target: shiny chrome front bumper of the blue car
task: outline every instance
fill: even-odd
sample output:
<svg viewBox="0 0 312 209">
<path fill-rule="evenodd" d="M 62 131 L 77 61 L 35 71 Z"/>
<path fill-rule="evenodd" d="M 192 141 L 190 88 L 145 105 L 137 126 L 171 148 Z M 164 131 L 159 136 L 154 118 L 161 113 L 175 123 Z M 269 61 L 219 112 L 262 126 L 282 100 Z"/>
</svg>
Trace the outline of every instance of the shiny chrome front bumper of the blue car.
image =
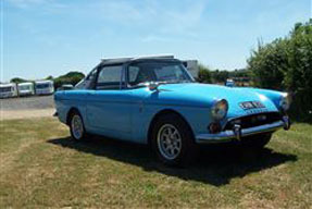
<svg viewBox="0 0 312 209">
<path fill-rule="evenodd" d="M 259 126 L 249 127 L 249 128 L 242 128 L 241 136 L 244 137 L 244 136 L 249 136 L 249 135 L 254 135 L 254 134 L 260 134 L 260 133 L 275 132 L 278 128 L 284 127 L 284 123 L 285 123 L 284 121 L 277 121 L 277 122 L 270 123 L 270 124 L 259 125 Z M 196 136 L 196 140 L 199 144 L 229 142 L 235 138 L 237 138 L 237 136 L 234 133 L 234 131 L 224 131 L 217 134 L 198 134 Z"/>
</svg>

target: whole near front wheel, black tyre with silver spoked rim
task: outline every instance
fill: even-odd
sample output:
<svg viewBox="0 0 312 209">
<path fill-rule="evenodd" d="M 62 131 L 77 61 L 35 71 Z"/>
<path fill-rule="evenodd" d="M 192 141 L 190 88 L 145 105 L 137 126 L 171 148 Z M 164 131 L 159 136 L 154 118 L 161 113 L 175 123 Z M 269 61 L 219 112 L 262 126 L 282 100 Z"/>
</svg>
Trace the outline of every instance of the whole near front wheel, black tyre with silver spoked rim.
<svg viewBox="0 0 312 209">
<path fill-rule="evenodd" d="M 160 116 L 154 123 L 151 146 L 160 161 L 179 167 L 191 163 L 197 149 L 190 127 L 173 113 Z"/>
</svg>

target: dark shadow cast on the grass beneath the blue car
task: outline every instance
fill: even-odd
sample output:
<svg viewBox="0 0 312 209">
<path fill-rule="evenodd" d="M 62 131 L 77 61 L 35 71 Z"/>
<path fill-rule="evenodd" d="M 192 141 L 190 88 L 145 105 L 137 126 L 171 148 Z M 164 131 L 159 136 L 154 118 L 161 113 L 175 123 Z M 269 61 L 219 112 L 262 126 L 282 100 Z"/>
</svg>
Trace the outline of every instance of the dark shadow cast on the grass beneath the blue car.
<svg viewBox="0 0 312 209">
<path fill-rule="evenodd" d="M 169 168 L 160 163 L 146 145 L 125 143 L 103 137 L 92 137 L 87 142 L 73 142 L 70 137 L 50 139 L 48 143 L 86 153 L 107 157 L 141 167 L 146 171 L 157 171 L 185 181 L 198 181 L 214 186 L 228 184 L 234 177 L 270 169 L 286 162 L 297 161 L 297 156 L 262 150 L 242 149 L 232 144 L 202 146 L 198 160 L 185 169 Z"/>
</svg>

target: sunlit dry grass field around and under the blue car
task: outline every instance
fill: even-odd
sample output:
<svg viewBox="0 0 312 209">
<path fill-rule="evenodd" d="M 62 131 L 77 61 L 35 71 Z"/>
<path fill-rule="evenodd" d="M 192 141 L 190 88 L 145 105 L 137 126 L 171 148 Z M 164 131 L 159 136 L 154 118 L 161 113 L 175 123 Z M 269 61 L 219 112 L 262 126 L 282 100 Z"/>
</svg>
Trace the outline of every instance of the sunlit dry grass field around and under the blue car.
<svg viewBox="0 0 312 209">
<path fill-rule="evenodd" d="M 0 123 L 0 208 L 311 208 L 309 124 L 260 152 L 210 146 L 195 165 L 171 169 L 146 146 L 73 143 L 55 119 Z"/>
</svg>

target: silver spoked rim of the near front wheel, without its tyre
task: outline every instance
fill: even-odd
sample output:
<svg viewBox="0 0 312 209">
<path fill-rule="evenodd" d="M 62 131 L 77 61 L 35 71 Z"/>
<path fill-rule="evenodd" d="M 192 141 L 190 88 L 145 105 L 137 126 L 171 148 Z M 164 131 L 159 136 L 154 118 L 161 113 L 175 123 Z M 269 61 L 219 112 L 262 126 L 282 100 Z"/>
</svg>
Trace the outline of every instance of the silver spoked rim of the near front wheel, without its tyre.
<svg viewBox="0 0 312 209">
<path fill-rule="evenodd" d="M 178 157 L 182 149 L 182 137 L 175 126 L 171 124 L 161 126 L 157 139 L 159 151 L 164 158 L 173 160 Z"/>
</svg>

